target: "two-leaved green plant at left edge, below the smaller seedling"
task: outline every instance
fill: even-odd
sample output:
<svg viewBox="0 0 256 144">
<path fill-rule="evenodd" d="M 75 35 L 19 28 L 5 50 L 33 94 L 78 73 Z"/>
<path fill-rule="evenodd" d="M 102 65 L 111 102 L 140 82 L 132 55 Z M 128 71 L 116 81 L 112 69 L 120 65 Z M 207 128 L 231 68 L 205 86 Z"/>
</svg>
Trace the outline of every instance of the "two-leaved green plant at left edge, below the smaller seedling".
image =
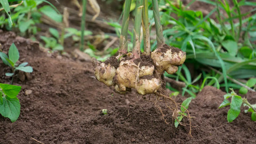
<svg viewBox="0 0 256 144">
<path fill-rule="evenodd" d="M 20 116 L 20 101 L 17 98 L 21 86 L 0 83 L 0 114 L 17 121 Z"/>
</svg>

